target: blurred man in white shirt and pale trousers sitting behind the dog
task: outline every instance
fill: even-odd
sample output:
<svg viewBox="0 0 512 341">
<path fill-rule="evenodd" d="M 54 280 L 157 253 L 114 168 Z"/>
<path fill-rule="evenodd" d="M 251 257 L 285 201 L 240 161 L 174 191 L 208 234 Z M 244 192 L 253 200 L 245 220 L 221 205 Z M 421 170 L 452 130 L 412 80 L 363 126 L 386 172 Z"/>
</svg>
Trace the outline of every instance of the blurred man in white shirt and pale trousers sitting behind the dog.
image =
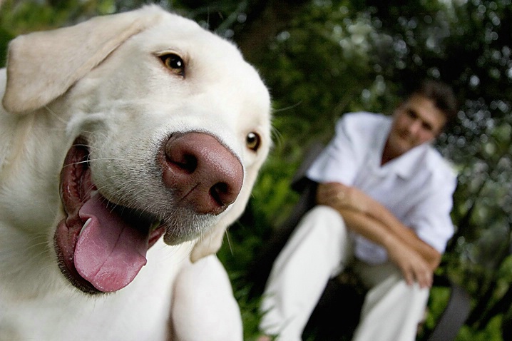
<svg viewBox="0 0 512 341">
<path fill-rule="evenodd" d="M 456 112 L 452 89 L 427 80 L 392 118 L 361 112 L 339 119 L 307 170 L 319 183 L 317 205 L 275 260 L 258 341 L 301 340 L 327 281 L 347 266 L 369 290 L 352 340 L 415 340 L 454 233 L 456 174 L 431 143 Z"/>
</svg>

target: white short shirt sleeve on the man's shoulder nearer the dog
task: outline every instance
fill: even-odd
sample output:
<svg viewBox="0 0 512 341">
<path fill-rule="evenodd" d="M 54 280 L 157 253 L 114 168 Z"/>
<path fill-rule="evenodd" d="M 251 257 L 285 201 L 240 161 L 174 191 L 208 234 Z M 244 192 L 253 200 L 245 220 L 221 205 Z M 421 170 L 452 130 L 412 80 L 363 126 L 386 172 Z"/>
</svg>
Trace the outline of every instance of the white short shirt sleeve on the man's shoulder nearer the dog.
<svg viewBox="0 0 512 341">
<path fill-rule="evenodd" d="M 337 182 L 352 185 L 362 153 L 354 134 L 354 114 L 346 114 L 336 124 L 332 141 L 319 154 L 306 176 L 319 183 Z M 360 146 L 359 146 L 360 148 Z"/>
</svg>

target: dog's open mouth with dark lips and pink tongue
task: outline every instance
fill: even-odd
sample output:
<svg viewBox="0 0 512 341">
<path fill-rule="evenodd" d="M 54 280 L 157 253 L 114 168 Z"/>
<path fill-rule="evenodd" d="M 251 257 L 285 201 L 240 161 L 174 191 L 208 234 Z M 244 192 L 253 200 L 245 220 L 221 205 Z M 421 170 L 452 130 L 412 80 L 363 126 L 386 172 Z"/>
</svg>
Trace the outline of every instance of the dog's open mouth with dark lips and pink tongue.
<svg viewBox="0 0 512 341">
<path fill-rule="evenodd" d="M 88 156 L 78 138 L 61 171 L 66 218 L 56 229 L 56 253 L 61 272 L 78 289 L 113 292 L 132 282 L 165 227 L 158 217 L 104 198 L 91 180 Z"/>
</svg>

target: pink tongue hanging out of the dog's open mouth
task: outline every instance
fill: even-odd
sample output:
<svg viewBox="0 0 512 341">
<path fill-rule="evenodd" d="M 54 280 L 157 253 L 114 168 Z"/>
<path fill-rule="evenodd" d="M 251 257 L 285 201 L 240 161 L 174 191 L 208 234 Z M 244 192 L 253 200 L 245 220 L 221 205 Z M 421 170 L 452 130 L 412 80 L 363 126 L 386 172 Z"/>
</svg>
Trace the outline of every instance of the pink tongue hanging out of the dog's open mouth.
<svg viewBox="0 0 512 341">
<path fill-rule="evenodd" d="M 145 265 L 148 234 L 131 228 L 102 200 L 93 195 L 80 209 L 80 218 L 91 221 L 78 237 L 75 267 L 96 289 L 111 292 L 130 284 Z"/>
</svg>

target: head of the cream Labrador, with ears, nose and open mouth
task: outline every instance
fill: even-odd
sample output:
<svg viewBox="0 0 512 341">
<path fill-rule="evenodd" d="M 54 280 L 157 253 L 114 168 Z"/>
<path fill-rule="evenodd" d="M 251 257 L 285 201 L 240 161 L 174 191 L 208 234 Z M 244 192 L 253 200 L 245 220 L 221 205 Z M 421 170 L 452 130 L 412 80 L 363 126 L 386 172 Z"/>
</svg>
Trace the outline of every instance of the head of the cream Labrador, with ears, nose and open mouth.
<svg viewBox="0 0 512 341">
<path fill-rule="evenodd" d="M 156 6 L 15 39 L 3 104 L 61 126 L 48 136 L 62 162 L 52 238 L 85 292 L 128 285 L 162 235 L 197 240 L 193 260 L 215 253 L 270 148 L 254 68 Z"/>
</svg>

